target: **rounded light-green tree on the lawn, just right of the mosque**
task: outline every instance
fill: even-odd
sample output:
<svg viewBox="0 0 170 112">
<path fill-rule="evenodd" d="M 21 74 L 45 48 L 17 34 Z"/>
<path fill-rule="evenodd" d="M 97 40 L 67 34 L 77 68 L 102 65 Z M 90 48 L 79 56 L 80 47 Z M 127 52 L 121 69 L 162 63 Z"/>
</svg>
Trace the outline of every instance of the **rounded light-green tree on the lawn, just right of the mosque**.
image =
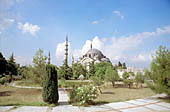
<svg viewBox="0 0 170 112">
<path fill-rule="evenodd" d="M 116 70 L 113 70 L 111 67 L 108 67 L 106 70 L 105 78 L 107 81 L 111 82 L 114 87 L 115 81 L 119 79 L 119 75 Z"/>
</svg>

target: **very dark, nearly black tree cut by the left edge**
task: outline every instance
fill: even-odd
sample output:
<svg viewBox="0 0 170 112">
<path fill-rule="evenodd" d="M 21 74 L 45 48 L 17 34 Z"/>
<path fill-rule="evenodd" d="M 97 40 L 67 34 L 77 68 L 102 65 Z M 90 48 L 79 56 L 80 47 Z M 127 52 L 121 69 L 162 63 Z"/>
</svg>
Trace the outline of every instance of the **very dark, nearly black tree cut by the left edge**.
<svg viewBox="0 0 170 112">
<path fill-rule="evenodd" d="M 3 57 L 2 53 L 0 52 L 0 75 L 6 72 L 7 61 Z"/>
</svg>

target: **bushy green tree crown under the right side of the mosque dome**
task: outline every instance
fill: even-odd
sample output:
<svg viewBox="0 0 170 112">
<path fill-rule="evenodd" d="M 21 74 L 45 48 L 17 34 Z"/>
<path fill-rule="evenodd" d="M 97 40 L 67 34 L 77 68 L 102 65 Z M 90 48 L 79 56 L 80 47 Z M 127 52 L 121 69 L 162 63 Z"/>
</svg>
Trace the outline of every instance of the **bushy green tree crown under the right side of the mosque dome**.
<svg viewBox="0 0 170 112">
<path fill-rule="evenodd" d="M 104 75 L 106 74 L 106 69 L 108 67 L 113 68 L 112 63 L 96 63 L 95 64 L 95 76 L 100 77 L 102 80 L 105 78 Z"/>
</svg>

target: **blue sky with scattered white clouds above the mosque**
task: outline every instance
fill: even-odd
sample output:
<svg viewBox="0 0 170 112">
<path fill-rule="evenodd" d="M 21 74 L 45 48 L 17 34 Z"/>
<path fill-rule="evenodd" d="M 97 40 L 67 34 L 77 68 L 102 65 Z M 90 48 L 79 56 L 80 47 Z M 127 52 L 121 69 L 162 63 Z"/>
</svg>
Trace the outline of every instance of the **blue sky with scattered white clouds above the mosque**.
<svg viewBox="0 0 170 112">
<path fill-rule="evenodd" d="M 0 52 L 32 64 L 38 49 L 63 64 L 99 49 L 113 64 L 149 68 L 159 46 L 170 48 L 170 0 L 0 0 Z"/>
</svg>

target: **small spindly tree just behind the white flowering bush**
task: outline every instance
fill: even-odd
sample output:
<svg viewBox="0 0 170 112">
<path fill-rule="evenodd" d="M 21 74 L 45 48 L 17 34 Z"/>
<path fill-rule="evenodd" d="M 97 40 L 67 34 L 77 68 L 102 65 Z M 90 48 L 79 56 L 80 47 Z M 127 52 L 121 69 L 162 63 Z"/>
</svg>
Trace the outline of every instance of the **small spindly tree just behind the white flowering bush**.
<svg viewBox="0 0 170 112">
<path fill-rule="evenodd" d="M 100 77 L 97 77 L 97 76 L 92 76 L 91 81 L 93 82 L 93 85 L 96 86 L 99 89 L 100 93 L 102 94 L 100 86 L 104 84 L 104 81 Z"/>
</svg>

